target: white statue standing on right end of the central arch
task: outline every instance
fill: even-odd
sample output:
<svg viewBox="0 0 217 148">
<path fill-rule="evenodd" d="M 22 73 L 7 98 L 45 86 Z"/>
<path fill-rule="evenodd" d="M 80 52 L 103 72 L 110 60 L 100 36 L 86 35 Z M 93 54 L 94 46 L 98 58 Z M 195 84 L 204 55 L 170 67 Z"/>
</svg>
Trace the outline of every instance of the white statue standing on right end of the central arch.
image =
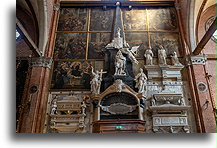
<svg viewBox="0 0 217 148">
<path fill-rule="evenodd" d="M 135 77 L 136 88 L 138 88 L 138 93 L 145 93 L 146 90 L 146 81 L 147 77 L 143 72 L 143 69 L 140 68 L 140 73 L 138 73 Z"/>
</svg>

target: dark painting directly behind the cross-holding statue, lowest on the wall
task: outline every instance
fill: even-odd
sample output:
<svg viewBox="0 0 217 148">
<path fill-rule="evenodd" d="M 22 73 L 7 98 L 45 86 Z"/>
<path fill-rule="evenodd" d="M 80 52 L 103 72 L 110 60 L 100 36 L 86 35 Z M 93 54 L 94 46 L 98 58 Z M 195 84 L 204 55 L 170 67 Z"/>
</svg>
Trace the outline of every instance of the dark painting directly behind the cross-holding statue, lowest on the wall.
<svg viewBox="0 0 217 148">
<path fill-rule="evenodd" d="M 90 89 L 93 61 L 56 61 L 52 78 L 53 89 Z"/>
</svg>

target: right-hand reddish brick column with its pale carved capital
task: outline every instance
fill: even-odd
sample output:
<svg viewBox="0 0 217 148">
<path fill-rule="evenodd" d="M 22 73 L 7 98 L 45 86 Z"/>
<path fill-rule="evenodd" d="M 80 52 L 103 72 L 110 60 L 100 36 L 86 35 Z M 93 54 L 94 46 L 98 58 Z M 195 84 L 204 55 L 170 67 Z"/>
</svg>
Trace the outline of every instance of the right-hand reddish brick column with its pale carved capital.
<svg viewBox="0 0 217 148">
<path fill-rule="evenodd" d="M 194 94 L 196 103 L 196 110 L 200 119 L 200 126 L 202 133 L 215 133 L 216 120 L 214 111 L 214 102 L 211 97 L 208 82 L 206 78 L 206 71 L 204 65 L 206 64 L 205 55 L 191 56 L 189 58 L 189 66 L 192 69 L 192 80 L 194 84 Z"/>
</svg>

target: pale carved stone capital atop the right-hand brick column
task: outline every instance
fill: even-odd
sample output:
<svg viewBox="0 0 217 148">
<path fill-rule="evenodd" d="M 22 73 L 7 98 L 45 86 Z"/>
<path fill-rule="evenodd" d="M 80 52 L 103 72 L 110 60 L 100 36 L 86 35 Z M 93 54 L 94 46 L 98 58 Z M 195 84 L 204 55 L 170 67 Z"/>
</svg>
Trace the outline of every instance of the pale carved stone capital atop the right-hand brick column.
<svg viewBox="0 0 217 148">
<path fill-rule="evenodd" d="M 186 58 L 186 65 L 206 65 L 207 57 L 205 54 L 190 56 Z"/>
</svg>

